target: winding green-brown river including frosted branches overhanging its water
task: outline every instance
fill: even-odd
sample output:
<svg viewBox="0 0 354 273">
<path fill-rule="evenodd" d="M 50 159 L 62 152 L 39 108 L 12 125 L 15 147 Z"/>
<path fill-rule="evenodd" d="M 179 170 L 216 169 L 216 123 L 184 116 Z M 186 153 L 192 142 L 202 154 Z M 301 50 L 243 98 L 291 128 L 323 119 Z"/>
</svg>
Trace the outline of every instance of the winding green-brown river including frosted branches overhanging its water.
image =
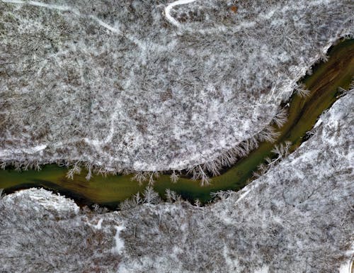
<svg viewBox="0 0 354 273">
<path fill-rule="evenodd" d="M 223 169 L 213 169 L 213 172 L 218 174 L 217 177 L 212 177 L 210 184 L 203 187 L 200 187 L 202 179 L 198 177 L 200 174 L 197 172 L 201 170 L 203 175 L 210 175 L 212 172 L 208 172 L 209 169 L 205 168 L 212 169 L 215 164 L 211 165 L 212 167 L 210 165 L 199 167 L 199 170 L 194 170 L 194 174 L 193 169 L 189 170 L 189 174 L 188 170 L 171 172 L 170 174 L 137 172 L 134 175 L 108 177 L 93 174 L 89 181 L 86 180 L 87 174 L 85 172 L 74 174 L 79 172 L 79 165 L 74 166 L 69 174 L 67 174 L 66 168 L 60 169 L 55 166 L 44 167 L 40 172 L 18 173 L 4 170 L 0 172 L 4 177 L 2 179 L 4 182 L 1 181 L 0 186 L 8 192 L 24 187 L 44 186 L 47 189 L 57 190 L 72 196 L 84 204 L 98 203 L 116 208 L 120 201 L 130 199 L 133 195 L 137 196 L 137 193 L 139 193 L 139 200 L 141 200 L 144 189 L 149 185 L 159 193 L 161 198 L 169 199 L 168 196 L 174 196 L 172 199 L 176 200 L 180 198 L 178 196 L 181 196 L 192 203 L 198 200 L 201 204 L 205 204 L 212 199 L 210 194 L 218 191 L 237 191 L 243 188 L 250 181 L 249 179 L 265 174 L 270 166 L 278 164 L 282 158 L 299 147 L 303 140 L 307 140 L 309 135 L 312 135 L 309 131 L 314 127 L 321 113 L 343 94 L 343 88 L 350 88 L 354 74 L 353 55 L 353 40 L 344 40 L 331 48 L 329 61 L 317 65 L 311 76 L 299 82 L 299 85 L 304 84 L 309 89 L 310 92 L 307 92 L 307 96 L 299 96 L 295 90 L 292 99 L 280 106 L 278 117 L 281 120 L 287 117 L 287 122 L 278 128 L 280 122 L 272 121 L 271 128 L 280 133 L 274 143 L 255 141 L 255 150 L 250 151 L 247 156 L 239 157 L 232 167 L 227 168 L 225 165 L 226 167 Z M 250 147 L 251 144 L 248 146 Z M 196 180 L 193 180 L 193 175 Z M 166 192 L 167 189 L 169 192 Z M 135 201 L 135 204 L 139 204 L 139 202 Z"/>
</svg>

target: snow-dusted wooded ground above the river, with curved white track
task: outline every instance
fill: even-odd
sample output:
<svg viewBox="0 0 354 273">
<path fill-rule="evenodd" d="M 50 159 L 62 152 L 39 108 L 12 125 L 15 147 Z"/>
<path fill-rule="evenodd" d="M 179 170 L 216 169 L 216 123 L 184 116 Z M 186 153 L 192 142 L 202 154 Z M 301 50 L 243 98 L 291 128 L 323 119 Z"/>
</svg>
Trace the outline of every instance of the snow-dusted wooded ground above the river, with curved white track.
<svg viewBox="0 0 354 273">
<path fill-rule="evenodd" d="M 0 160 L 213 160 L 352 30 L 350 0 L 1 0 Z"/>
</svg>

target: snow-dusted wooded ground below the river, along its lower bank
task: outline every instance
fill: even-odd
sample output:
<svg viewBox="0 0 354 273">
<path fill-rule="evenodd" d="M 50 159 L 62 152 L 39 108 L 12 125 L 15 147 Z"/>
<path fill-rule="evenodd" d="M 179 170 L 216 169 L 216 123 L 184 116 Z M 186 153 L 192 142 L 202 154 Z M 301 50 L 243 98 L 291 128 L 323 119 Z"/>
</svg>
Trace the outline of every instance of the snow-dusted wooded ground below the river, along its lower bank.
<svg viewBox="0 0 354 273">
<path fill-rule="evenodd" d="M 78 211 L 45 190 L 4 196 L 1 271 L 349 273 L 353 109 L 352 90 L 297 151 L 210 206 L 176 201 L 108 213 Z"/>
</svg>

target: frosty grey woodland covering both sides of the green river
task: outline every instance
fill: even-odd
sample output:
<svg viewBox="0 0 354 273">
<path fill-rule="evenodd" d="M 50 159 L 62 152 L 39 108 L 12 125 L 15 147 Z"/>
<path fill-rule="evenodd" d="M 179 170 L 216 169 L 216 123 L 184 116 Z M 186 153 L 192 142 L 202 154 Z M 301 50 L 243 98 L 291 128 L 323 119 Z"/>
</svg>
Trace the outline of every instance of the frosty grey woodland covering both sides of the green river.
<svg viewBox="0 0 354 273">
<path fill-rule="evenodd" d="M 0 167 L 188 169 L 271 140 L 350 0 L 0 0 Z M 207 206 L 147 187 L 117 211 L 0 194 L 0 272 L 338 272 L 353 257 L 353 87 L 304 142 Z M 174 171 L 173 171 L 174 170 Z"/>
</svg>

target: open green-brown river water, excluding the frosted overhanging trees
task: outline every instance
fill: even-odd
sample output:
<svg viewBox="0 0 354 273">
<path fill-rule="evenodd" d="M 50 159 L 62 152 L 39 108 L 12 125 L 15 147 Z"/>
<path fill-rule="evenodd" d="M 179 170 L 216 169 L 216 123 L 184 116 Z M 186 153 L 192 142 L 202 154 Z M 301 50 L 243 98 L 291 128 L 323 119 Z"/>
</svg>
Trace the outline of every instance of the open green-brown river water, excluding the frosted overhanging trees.
<svg viewBox="0 0 354 273">
<path fill-rule="evenodd" d="M 162 174 L 154 183 L 154 189 L 164 196 L 166 189 L 180 194 L 183 199 L 202 203 L 211 200 L 210 193 L 215 191 L 239 190 L 243 188 L 258 165 L 265 162 L 266 157 L 274 157 L 274 145 L 290 141 L 290 152 L 294 151 L 306 140 L 324 110 L 341 95 L 338 87 L 348 89 L 354 75 L 354 40 L 344 40 L 329 50 L 329 61 L 313 67 L 314 73 L 301 80 L 309 89 L 305 98 L 294 94 L 288 104 L 288 120 L 279 129 L 280 136 L 275 143 L 263 142 L 256 150 L 218 177 L 212 177 L 209 186 L 200 186 L 199 181 L 188 177 L 180 177 L 176 184 L 171 183 L 169 174 Z M 138 191 L 143 191 L 147 183 L 139 185 L 132 181 L 132 175 L 109 177 L 94 176 L 86 181 L 82 172 L 74 179 L 67 179 L 67 169 L 57 165 L 46 165 L 40 172 L 34 170 L 16 172 L 13 169 L 0 171 L 0 189 L 11 193 L 18 189 L 44 187 L 76 200 L 78 204 L 100 204 L 108 208 L 116 208 L 120 201 L 130 198 Z"/>
</svg>

